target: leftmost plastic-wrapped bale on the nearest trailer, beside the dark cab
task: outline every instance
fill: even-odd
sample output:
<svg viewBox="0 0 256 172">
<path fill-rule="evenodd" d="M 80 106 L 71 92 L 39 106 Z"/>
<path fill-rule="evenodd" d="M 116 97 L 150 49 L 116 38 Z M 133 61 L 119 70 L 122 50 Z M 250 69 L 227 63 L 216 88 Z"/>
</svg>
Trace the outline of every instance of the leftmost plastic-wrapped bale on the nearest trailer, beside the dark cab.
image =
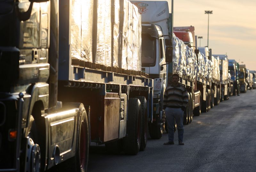
<svg viewBox="0 0 256 172">
<path fill-rule="evenodd" d="M 70 50 L 71 58 L 81 60 L 81 0 L 71 1 Z"/>
</svg>

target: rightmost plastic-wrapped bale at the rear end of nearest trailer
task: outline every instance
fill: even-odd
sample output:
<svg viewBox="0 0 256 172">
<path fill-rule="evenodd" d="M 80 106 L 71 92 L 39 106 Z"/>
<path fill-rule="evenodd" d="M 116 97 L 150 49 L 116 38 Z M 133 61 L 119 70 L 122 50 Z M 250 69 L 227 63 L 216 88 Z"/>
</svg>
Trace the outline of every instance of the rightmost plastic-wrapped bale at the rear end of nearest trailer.
<svg viewBox="0 0 256 172">
<path fill-rule="evenodd" d="M 141 23 L 139 23 L 140 14 L 138 8 L 132 4 L 132 70 L 141 70 L 141 65 L 138 66 L 138 61 L 141 60 L 139 39 L 141 40 L 139 34 L 141 35 Z M 140 28 L 140 32 L 139 32 Z"/>
</svg>

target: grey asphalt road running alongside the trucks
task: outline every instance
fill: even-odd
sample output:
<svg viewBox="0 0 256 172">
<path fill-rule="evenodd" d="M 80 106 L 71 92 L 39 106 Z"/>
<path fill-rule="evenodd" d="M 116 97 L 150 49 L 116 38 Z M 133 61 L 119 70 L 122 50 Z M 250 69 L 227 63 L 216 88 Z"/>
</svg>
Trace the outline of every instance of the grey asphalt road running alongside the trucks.
<svg viewBox="0 0 256 172">
<path fill-rule="evenodd" d="M 256 90 L 220 102 L 184 127 L 184 146 L 148 138 L 137 155 L 91 147 L 88 171 L 256 171 Z"/>
</svg>

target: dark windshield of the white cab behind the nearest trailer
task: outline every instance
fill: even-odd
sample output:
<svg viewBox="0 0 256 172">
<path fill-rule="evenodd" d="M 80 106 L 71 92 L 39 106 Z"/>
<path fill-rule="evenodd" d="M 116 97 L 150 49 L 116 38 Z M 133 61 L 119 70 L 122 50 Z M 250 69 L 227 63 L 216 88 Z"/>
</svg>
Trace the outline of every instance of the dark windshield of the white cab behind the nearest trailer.
<svg viewBox="0 0 256 172">
<path fill-rule="evenodd" d="M 141 35 L 141 66 L 150 67 L 156 63 L 156 38 L 149 34 Z"/>
</svg>

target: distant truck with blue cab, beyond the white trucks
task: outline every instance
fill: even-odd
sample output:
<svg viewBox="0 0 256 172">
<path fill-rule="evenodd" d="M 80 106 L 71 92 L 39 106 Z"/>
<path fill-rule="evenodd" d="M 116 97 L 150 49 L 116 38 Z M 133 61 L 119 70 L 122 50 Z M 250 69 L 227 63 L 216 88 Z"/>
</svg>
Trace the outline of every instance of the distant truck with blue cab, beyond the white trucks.
<svg viewBox="0 0 256 172">
<path fill-rule="evenodd" d="M 233 87 L 233 96 L 239 94 L 240 92 L 240 83 L 239 83 L 239 63 L 234 59 L 228 60 L 228 72 L 231 75 L 231 80 L 234 81 Z"/>
</svg>

